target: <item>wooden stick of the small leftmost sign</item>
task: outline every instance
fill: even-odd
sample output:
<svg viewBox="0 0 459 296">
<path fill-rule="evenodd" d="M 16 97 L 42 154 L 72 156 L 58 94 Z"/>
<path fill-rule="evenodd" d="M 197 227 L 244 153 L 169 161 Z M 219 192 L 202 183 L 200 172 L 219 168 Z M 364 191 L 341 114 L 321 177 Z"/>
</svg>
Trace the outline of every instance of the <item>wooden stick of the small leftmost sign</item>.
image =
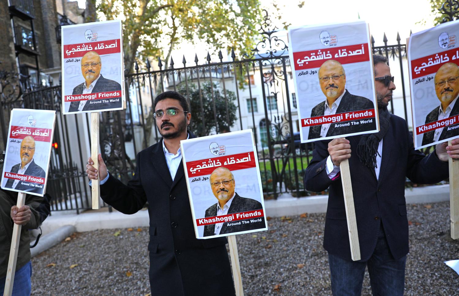
<svg viewBox="0 0 459 296">
<path fill-rule="evenodd" d="M 26 201 L 26 194 L 19 192 L 17 194 L 18 208 L 22 207 Z M 11 239 L 10 259 L 8 260 L 8 269 L 6 271 L 4 296 L 10 296 L 13 292 L 14 273 L 16 272 L 17 250 L 19 249 L 19 240 L 21 237 L 21 225 L 14 223 L 13 237 Z"/>
</svg>

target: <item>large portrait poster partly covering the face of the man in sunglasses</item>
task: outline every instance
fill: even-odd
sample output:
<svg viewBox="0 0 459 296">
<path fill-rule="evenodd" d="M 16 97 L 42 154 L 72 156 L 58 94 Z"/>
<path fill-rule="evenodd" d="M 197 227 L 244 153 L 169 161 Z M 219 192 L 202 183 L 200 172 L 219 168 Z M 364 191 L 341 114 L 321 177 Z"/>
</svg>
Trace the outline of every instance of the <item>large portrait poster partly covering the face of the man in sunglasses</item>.
<svg viewBox="0 0 459 296">
<path fill-rule="evenodd" d="M 379 130 L 368 24 L 289 27 L 301 142 Z"/>
</svg>

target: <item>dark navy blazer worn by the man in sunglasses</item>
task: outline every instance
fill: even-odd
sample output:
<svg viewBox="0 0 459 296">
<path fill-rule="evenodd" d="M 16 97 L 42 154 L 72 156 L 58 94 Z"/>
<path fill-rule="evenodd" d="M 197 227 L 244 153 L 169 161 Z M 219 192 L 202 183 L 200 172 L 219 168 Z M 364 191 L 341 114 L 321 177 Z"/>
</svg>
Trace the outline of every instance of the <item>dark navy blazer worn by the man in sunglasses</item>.
<svg viewBox="0 0 459 296">
<path fill-rule="evenodd" d="M 437 183 L 448 178 L 448 162 L 435 152 L 425 156 L 414 150 L 408 125 L 392 115 L 383 138 L 379 180 L 374 169 L 362 165 L 355 154 L 360 135 L 347 137 L 351 144 L 349 168 L 357 220 L 361 261 L 367 261 L 375 250 L 380 229 L 384 227 L 392 255 L 399 259 L 408 253 L 408 219 L 405 201 L 405 177 L 415 183 Z M 351 261 L 346 211 L 341 177 L 330 180 L 325 170 L 328 142 L 315 142 L 313 159 L 306 169 L 307 190 L 320 192 L 330 187 L 325 219 L 324 248 L 329 253 Z"/>
</svg>

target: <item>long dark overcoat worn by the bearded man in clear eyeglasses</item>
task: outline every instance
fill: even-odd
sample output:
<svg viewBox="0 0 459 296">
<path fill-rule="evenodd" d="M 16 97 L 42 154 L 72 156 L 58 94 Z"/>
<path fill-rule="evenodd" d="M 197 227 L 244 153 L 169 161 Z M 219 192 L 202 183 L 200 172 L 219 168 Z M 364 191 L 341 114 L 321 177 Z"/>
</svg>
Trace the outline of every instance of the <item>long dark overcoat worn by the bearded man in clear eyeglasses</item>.
<svg viewBox="0 0 459 296">
<path fill-rule="evenodd" d="M 173 181 L 162 140 L 140 151 L 136 163 L 128 185 L 110 175 L 101 197 L 125 214 L 148 201 L 151 295 L 235 295 L 226 238 L 196 239 L 183 163 Z"/>
</svg>

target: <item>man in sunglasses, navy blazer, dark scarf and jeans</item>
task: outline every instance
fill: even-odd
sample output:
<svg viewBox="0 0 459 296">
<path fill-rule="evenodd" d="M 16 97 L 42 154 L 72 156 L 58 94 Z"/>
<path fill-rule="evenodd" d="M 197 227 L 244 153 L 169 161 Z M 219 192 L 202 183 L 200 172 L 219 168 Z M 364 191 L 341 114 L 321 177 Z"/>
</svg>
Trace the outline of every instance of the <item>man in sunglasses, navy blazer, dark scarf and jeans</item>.
<svg viewBox="0 0 459 296">
<path fill-rule="evenodd" d="M 368 268 L 373 295 L 403 295 L 408 246 L 405 179 L 432 184 L 448 178 L 448 157 L 459 159 L 459 139 L 425 156 L 414 150 L 406 121 L 390 114 L 395 84 L 387 59 L 373 55 L 380 131 L 315 142 L 304 176 L 307 190 L 330 188 L 324 248 L 333 295 L 360 295 Z M 360 257 L 352 261 L 340 163 L 349 159 Z"/>
</svg>

